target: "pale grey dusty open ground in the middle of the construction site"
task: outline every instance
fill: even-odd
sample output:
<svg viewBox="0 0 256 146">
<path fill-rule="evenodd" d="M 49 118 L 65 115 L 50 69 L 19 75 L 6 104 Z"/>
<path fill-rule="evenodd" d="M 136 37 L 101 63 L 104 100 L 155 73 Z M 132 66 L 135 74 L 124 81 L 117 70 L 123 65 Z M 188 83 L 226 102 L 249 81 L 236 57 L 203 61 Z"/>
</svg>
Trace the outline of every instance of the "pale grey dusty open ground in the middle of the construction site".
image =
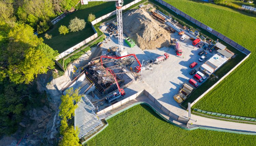
<svg viewBox="0 0 256 146">
<path fill-rule="evenodd" d="M 102 27 L 101 30 L 108 35 L 108 33 Z M 168 33 L 170 35 L 170 33 Z M 185 40 L 180 40 L 181 35 L 177 33 L 171 34 L 172 38 L 178 39 L 180 41 L 180 48 L 183 50 L 182 56 L 176 56 L 174 47 L 162 47 L 160 49 L 140 49 L 137 45 L 133 48 L 130 48 L 127 43 L 124 43 L 124 48 L 127 50 L 128 54 L 136 54 L 140 62 L 142 60 L 153 60 L 164 53 L 169 54 L 169 59 L 165 62 L 162 62 L 159 65 L 153 65 L 153 71 L 145 70 L 142 71 L 142 80 L 137 80 L 125 88 L 126 95 L 124 98 L 129 97 L 143 89 L 151 93 L 156 99 L 158 99 L 160 104 L 165 105 L 169 110 L 176 111 L 177 115 L 186 114 L 186 111 L 181 109 L 179 104 L 174 101 L 173 96 L 179 92 L 180 87 L 183 83 L 188 83 L 190 78 L 193 78 L 189 74 L 191 69 L 189 68 L 190 63 L 196 61 L 198 65 L 196 70 L 199 69 L 199 66 L 203 62 L 199 62 L 198 53 L 202 50 L 198 48 L 198 44 L 195 49 L 193 49 L 192 41 L 189 38 Z M 108 43 L 103 43 L 103 48 L 109 48 L 111 46 L 117 46 L 118 39 L 112 37 L 111 41 Z M 208 53 L 208 58 L 212 54 Z M 206 60 L 205 60 L 206 61 Z M 132 65 L 138 66 L 137 62 L 134 62 Z M 204 82 L 203 82 L 204 83 Z M 202 83 L 199 83 L 199 85 Z M 122 100 L 123 98 L 118 99 L 117 101 Z"/>
</svg>

